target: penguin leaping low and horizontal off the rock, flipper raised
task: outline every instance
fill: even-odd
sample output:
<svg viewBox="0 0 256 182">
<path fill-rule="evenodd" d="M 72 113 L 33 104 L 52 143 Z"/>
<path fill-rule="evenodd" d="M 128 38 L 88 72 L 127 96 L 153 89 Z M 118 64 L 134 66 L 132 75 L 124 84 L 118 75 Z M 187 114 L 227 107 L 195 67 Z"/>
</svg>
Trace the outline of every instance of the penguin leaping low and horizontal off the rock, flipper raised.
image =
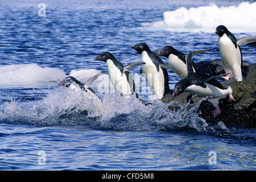
<svg viewBox="0 0 256 182">
<path fill-rule="evenodd" d="M 218 102 L 222 98 L 229 96 L 232 101 L 236 101 L 232 96 L 232 88 L 229 86 L 225 89 L 221 83 L 216 80 L 216 77 L 225 76 L 227 74 L 211 77 L 204 73 L 193 72 L 191 53 L 187 56 L 187 69 L 188 76 L 185 77 L 184 80 L 177 82 L 174 86 L 173 96 L 188 91 L 192 95 L 207 97 L 207 100 L 216 107 L 216 109 L 212 111 L 214 115 L 221 113 Z"/>
</svg>

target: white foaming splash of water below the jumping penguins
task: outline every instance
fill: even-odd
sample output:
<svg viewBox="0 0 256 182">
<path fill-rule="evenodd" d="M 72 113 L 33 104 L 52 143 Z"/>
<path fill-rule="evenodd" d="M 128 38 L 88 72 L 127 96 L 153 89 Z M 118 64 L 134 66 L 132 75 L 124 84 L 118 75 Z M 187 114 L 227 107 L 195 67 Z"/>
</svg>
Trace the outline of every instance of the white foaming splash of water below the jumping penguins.
<svg viewBox="0 0 256 182">
<path fill-rule="evenodd" d="M 196 131 L 226 130 L 224 123 L 210 126 L 197 117 L 200 102 L 185 104 L 179 110 L 155 100 L 144 105 L 135 96 L 105 94 L 102 102 L 80 89 L 56 87 L 45 90 L 47 96 L 34 101 L 11 101 L 0 104 L 0 122 L 26 123 L 36 126 L 89 125 L 118 131 Z"/>
</svg>

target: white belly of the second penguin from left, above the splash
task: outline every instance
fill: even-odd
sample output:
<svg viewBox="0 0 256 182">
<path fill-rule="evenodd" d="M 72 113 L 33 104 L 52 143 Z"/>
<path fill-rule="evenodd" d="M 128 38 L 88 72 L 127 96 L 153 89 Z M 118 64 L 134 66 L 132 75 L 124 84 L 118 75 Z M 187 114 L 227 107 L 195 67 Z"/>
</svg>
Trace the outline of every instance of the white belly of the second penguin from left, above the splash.
<svg viewBox="0 0 256 182">
<path fill-rule="evenodd" d="M 121 71 L 115 67 L 112 60 L 107 60 L 106 63 L 108 64 L 109 78 L 114 85 L 115 90 L 122 95 L 131 94 L 130 85 L 126 75 L 122 74 Z"/>
</svg>

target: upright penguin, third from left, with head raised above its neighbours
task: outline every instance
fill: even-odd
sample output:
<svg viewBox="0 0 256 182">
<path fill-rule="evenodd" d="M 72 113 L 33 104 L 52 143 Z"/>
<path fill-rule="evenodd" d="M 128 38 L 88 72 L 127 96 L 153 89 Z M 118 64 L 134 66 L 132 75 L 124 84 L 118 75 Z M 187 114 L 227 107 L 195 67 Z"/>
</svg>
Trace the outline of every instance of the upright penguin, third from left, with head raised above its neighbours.
<svg viewBox="0 0 256 182">
<path fill-rule="evenodd" d="M 166 97 L 172 93 L 169 88 L 168 72 L 165 68 L 161 68 L 163 61 L 145 43 L 139 43 L 131 46 L 141 54 L 142 65 L 141 74 L 146 76 L 147 85 L 151 91 L 158 96 L 159 99 Z"/>
</svg>

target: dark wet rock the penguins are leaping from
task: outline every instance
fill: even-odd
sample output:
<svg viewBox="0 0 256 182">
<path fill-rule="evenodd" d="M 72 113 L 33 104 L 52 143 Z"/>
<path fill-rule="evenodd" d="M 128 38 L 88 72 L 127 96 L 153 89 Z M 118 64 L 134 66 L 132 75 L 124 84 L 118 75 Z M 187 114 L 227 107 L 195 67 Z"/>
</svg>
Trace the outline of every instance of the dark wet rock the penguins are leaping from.
<svg viewBox="0 0 256 182">
<path fill-rule="evenodd" d="M 200 72 L 209 75 L 220 75 L 224 73 L 221 61 L 203 61 L 197 63 Z M 243 63 L 243 81 L 219 79 L 224 87 L 231 86 L 233 97 L 236 102 L 231 101 L 229 97 L 220 100 L 219 106 L 221 114 L 214 116 L 212 111 L 215 109 L 207 100 L 201 101 L 199 97 L 193 97 L 193 102 L 201 101 L 197 113 L 199 117 L 207 121 L 222 121 L 225 125 L 240 125 L 256 128 L 256 64 Z M 179 96 L 163 98 L 163 102 L 171 103 L 170 109 L 179 109 L 187 103 L 189 93 L 185 92 Z M 172 102 L 174 101 L 174 102 Z"/>
</svg>

